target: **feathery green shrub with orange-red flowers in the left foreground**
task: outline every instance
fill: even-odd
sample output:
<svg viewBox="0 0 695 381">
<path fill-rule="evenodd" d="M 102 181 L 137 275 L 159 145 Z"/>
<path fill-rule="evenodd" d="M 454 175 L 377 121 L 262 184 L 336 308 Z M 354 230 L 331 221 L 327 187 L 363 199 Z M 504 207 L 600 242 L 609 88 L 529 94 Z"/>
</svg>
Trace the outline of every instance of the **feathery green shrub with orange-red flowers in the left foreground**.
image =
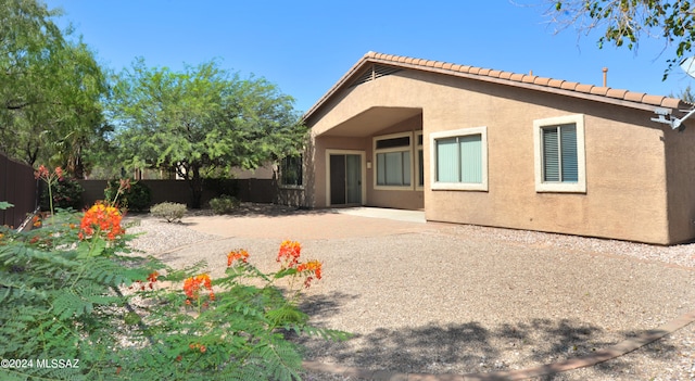
<svg viewBox="0 0 695 381">
<path fill-rule="evenodd" d="M 299 309 L 321 263 L 300 262 L 298 242 L 281 243 L 277 272 L 233 250 L 211 278 L 203 264 L 135 255 L 121 223 L 118 208 L 98 203 L 26 232 L 0 227 L 1 380 L 291 381 L 302 357 L 287 332 L 348 338 L 308 326 Z"/>
</svg>

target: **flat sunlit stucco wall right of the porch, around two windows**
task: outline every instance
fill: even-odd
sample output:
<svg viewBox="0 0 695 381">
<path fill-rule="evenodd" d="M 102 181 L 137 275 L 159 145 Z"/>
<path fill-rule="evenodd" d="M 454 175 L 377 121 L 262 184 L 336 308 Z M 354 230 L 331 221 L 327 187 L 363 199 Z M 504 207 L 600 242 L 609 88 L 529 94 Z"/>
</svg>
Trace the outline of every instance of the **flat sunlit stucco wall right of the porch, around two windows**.
<svg viewBox="0 0 695 381">
<path fill-rule="evenodd" d="M 649 113 L 466 85 L 438 86 L 429 97 L 432 103 L 426 107 L 424 125 L 427 134 L 488 127 L 489 191 L 427 190 L 427 219 L 669 242 L 664 131 L 649 126 Z M 452 99 L 460 99 L 462 106 L 451 106 Z M 584 114 L 586 193 L 536 192 L 533 120 L 571 114 Z M 430 160 L 428 141 L 425 150 Z"/>
</svg>

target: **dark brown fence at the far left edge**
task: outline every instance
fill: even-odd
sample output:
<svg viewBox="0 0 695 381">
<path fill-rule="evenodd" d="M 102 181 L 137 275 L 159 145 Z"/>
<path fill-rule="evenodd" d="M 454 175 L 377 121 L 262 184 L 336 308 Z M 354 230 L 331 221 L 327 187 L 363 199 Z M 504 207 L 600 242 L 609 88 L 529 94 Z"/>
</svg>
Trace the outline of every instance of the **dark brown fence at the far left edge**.
<svg viewBox="0 0 695 381">
<path fill-rule="evenodd" d="M 27 214 L 38 205 L 38 181 L 34 168 L 14 162 L 0 153 L 0 201 L 14 205 L 0 211 L 0 226 L 20 227 Z"/>
</svg>

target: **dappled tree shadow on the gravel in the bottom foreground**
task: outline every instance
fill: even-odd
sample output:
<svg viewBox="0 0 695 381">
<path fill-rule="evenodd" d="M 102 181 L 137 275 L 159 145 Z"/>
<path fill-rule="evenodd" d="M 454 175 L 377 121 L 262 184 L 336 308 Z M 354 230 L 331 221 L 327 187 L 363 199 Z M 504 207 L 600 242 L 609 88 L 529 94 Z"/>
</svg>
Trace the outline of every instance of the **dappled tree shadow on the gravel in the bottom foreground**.
<svg viewBox="0 0 695 381">
<path fill-rule="evenodd" d="M 337 314 L 340 299 L 307 303 L 312 316 Z M 305 309 L 306 310 L 306 309 Z M 314 314 L 317 315 L 314 315 Z M 301 339 L 311 360 L 328 361 L 362 369 L 381 369 L 416 373 L 489 373 L 536 367 L 568 358 L 590 356 L 641 332 L 611 335 L 602 328 L 571 319 L 535 319 L 530 322 L 505 323 L 494 329 L 471 321 L 460 325 L 429 323 L 402 330 L 377 329 L 348 342 L 325 342 Z M 616 341 L 616 338 L 617 341 Z M 353 341 L 357 341 L 356 343 Z M 675 348 L 669 344 L 643 350 L 665 365 L 673 361 Z M 630 365 L 620 357 L 599 364 L 599 372 L 629 371 Z M 540 380 L 561 380 L 564 373 L 548 374 Z"/>
</svg>

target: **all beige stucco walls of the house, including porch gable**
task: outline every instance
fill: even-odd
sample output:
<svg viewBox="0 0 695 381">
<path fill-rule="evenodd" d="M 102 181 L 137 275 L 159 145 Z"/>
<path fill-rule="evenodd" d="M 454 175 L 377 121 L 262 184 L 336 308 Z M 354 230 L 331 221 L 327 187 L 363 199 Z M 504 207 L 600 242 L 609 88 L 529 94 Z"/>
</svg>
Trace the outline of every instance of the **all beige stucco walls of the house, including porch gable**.
<svg viewBox="0 0 695 381">
<path fill-rule="evenodd" d="M 428 220 L 659 244 L 695 237 L 690 223 L 695 215 L 695 180 L 687 176 L 695 166 L 695 153 L 688 150 L 688 145 L 693 147 L 693 131 L 686 130 L 682 136 L 687 139 L 674 143 L 678 132 L 652 123 L 650 112 L 403 71 L 337 93 L 325 109 L 312 115 L 308 125 L 314 136 L 328 135 L 331 128 L 375 106 L 422 110 L 422 194 Z M 536 192 L 533 120 L 573 114 L 584 115 L 586 192 Z M 432 190 L 429 134 L 483 126 L 488 134 L 488 190 Z M 381 132 L 369 131 L 367 138 L 352 140 L 319 136 L 316 149 L 370 150 L 371 136 Z M 315 206 L 321 206 L 320 200 L 325 200 L 324 160 L 323 154 L 314 156 Z M 686 167 L 679 169 L 673 162 L 685 162 Z M 368 186 L 372 188 L 370 182 Z M 391 193 L 371 191 L 368 203 L 382 206 L 381 201 Z"/>
</svg>

